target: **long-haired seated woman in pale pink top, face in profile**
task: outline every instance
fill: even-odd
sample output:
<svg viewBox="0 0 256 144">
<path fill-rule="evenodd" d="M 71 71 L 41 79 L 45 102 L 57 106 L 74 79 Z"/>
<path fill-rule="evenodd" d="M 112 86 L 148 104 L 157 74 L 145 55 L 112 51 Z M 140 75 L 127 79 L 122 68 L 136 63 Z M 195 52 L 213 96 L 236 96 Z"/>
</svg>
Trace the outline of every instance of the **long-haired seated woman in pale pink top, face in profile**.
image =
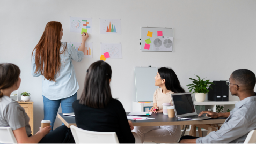
<svg viewBox="0 0 256 144">
<path fill-rule="evenodd" d="M 170 68 L 162 67 L 158 69 L 155 79 L 155 85 L 160 88 L 156 89 L 154 93 L 154 105 L 150 109 L 150 112 L 163 113 L 163 103 L 171 103 L 173 105 L 171 94 L 184 93 L 185 90 L 180 86 L 177 75 Z M 170 143 L 179 140 L 180 126 L 137 126 L 134 132 L 140 137 L 141 143 L 144 141 Z"/>
</svg>

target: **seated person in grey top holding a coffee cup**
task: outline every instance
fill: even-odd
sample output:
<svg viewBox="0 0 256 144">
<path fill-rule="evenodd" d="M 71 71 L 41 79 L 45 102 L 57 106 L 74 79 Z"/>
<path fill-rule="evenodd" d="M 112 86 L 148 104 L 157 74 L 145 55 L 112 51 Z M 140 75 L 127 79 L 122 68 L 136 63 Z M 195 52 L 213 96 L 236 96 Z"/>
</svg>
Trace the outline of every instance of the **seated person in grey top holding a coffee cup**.
<svg viewBox="0 0 256 144">
<path fill-rule="evenodd" d="M 14 64 L 0 64 L 0 127 L 11 127 L 19 144 L 62 143 L 70 130 L 65 125 L 50 132 L 50 126 L 31 135 L 30 118 L 18 102 L 10 98 L 20 86 L 20 69 Z"/>
</svg>

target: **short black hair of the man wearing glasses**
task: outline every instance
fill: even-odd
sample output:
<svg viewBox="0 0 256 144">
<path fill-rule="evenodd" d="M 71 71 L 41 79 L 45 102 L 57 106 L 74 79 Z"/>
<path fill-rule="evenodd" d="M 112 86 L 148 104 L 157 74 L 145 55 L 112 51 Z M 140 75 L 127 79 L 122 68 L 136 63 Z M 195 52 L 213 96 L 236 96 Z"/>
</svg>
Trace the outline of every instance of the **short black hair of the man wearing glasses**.
<svg viewBox="0 0 256 144">
<path fill-rule="evenodd" d="M 244 85 L 246 89 L 254 89 L 256 84 L 256 77 L 255 74 L 247 69 L 239 69 L 232 73 L 231 77 L 236 82 Z"/>
</svg>

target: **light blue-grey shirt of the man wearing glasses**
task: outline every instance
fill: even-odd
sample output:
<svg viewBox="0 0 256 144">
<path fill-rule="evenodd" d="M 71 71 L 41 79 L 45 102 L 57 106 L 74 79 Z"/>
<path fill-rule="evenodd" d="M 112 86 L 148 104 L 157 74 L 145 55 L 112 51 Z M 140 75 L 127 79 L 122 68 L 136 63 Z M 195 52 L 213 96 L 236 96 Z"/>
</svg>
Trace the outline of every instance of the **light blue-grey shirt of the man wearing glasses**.
<svg viewBox="0 0 256 144">
<path fill-rule="evenodd" d="M 256 95 L 256 94 L 255 94 Z M 236 103 L 220 130 L 210 132 L 196 143 L 244 143 L 248 133 L 256 129 L 256 96 Z"/>
</svg>

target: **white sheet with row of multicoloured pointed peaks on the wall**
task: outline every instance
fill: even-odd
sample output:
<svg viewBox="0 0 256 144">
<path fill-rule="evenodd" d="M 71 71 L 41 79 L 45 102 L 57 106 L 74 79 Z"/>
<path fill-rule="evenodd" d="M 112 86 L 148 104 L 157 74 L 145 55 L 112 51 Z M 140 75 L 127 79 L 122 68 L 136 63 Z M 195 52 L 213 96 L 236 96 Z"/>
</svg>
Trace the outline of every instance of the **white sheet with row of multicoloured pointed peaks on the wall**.
<svg viewBox="0 0 256 144">
<path fill-rule="evenodd" d="M 100 34 L 121 34 L 121 20 L 100 19 Z"/>
</svg>

